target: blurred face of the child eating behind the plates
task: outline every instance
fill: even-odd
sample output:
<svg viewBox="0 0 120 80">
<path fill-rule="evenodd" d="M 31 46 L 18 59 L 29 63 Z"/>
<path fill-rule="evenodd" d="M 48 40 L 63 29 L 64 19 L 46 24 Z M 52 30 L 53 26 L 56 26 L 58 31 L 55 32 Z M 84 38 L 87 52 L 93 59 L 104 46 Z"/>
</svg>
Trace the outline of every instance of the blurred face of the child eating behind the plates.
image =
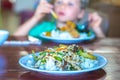
<svg viewBox="0 0 120 80">
<path fill-rule="evenodd" d="M 55 0 L 58 21 L 75 21 L 81 16 L 80 0 Z"/>
</svg>

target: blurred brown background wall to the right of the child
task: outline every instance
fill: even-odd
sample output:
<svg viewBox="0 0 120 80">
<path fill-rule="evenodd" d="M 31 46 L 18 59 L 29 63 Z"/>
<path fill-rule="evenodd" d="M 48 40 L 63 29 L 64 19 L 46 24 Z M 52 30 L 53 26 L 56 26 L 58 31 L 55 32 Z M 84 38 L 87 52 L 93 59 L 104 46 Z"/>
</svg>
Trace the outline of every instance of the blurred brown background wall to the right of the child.
<svg viewBox="0 0 120 80">
<path fill-rule="evenodd" d="M 90 7 L 108 15 L 109 37 L 120 37 L 120 0 L 90 0 Z"/>
</svg>

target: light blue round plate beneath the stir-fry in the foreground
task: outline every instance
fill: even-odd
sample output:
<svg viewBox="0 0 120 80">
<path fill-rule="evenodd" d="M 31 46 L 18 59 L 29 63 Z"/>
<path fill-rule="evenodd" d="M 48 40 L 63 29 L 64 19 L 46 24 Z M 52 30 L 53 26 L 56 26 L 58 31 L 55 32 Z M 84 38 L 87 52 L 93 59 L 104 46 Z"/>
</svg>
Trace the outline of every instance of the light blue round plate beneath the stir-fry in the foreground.
<svg viewBox="0 0 120 80">
<path fill-rule="evenodd" d="M 30 66 L 33 66 L 33 63 L 34 63 L 34 59 L 32 57 L 32 54 L 29 54 L 27 56 L 24 56 L 24 57 L 20 58 L 19 64 L 23 68 L 26 68 L 26 69 L 31 70 L 31 71 L 37 71 L 37 72 L 40 72 L 40 73 L 48 73 L 48 74 L 56 74 L 56 75 L 80 74 L 80 73 L 84 73 L 84 72 L 89 72 L 89 71 L 94 71 L 94 70 L 101 69 L 107 64 L 108 61 L 105 57 L 103 57 L 99 54 L 94 54 L 94 55 L 98 59 L 98 64 L 93 68 L 78 70 L 78 71 L 48 71 L 48 70 L 40 70 L 40 69 L 32 68 L 32 67 L 30 67 Z"/>
</svg>

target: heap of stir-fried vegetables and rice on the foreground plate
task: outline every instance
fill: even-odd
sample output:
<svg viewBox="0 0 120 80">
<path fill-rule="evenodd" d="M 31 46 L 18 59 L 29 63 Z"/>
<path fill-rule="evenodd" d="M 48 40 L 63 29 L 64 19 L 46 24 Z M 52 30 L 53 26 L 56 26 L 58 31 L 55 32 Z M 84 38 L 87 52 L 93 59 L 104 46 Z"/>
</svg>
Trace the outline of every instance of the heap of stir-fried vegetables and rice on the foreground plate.
<svg viewBox="0 0 120 80">
<path fill-rule="evenodd" d="M 43 70 L 81 70 L 86 59 L 97 60 L 93 54 L 85 51 L 78 45 L 59 45 L 58 47 L 48 48 L 35 55 L 36 61 L 34 67 Z M 84 59 L 84 60 L 83 60 Z"/>
</svg>

